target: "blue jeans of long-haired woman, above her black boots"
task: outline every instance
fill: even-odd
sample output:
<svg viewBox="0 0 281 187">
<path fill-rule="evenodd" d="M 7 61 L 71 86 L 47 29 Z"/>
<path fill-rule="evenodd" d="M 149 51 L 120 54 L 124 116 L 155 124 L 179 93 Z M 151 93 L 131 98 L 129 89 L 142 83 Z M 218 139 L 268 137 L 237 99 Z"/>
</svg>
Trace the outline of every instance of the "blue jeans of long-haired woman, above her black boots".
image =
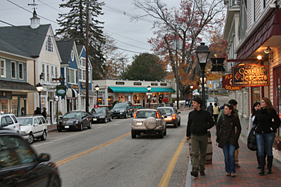
<svg viewBox="0 0 281 187">
<path fill-rule="evenodd" d="M 268 156 L 272 156 L 273 141 L 275 139 L 275 132 L 266 134 L 256 133 L 256 144 L 258 145 L 258 156 L 264 156 L 264 151 Z"/>
</svg>

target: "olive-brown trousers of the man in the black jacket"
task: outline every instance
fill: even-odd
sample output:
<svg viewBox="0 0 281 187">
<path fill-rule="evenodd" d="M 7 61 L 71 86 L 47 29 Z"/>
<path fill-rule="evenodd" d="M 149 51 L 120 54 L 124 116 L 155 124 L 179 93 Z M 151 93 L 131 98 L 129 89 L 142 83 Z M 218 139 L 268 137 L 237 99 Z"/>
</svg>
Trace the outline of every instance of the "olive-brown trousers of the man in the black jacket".
<svg viewBox="0 0 281 187">
<path fill-rule="evenodd" d="M 206 151 L 208 146 L 208 134 L 197 136 L 191 134 L 191 151 L 192 151 L 192 171 L 205 170 Z"/>
</svg>

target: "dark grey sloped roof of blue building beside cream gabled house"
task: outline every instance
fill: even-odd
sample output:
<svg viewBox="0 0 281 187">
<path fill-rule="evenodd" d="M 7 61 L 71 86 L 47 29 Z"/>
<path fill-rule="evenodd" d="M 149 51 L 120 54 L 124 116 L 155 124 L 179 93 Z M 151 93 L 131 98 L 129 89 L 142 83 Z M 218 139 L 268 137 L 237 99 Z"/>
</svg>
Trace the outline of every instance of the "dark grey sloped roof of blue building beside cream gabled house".
<svg viewBox="0 0 281 187">
<path fill-rule="evenodd" d="M 74 46 L 74 40 L 67 40 L 67 41 L 55 41 L 58 46 L 58 51 L 60 52 L 60 57 L 62 62 L 60 64 L 68 64 L 70 60 L 70 55 L 72 48 Z"/>
</svg>

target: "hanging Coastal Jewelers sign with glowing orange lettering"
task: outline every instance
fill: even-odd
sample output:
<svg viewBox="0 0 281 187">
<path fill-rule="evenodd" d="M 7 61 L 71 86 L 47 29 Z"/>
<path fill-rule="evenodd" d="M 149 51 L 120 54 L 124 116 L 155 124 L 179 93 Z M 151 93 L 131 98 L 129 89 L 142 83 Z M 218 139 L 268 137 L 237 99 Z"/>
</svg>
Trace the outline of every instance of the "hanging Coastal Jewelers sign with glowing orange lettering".
<svg viewBox="0 0 281 187">
<path fill-rule="evenodd" d="M 269 85 L 269 67 L 260 64 L 246 64 L 233 67 L 233 85 L 266 86 Z"/>
</svg>

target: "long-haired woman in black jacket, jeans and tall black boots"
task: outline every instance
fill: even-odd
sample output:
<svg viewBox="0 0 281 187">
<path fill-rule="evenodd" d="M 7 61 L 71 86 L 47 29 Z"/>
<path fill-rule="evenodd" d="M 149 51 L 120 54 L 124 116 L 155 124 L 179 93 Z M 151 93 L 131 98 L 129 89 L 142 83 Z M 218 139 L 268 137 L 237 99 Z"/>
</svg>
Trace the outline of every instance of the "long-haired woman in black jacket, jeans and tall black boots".
<svg viewBox="0 0 281 187">
<path fill-rule="evenodd" d="M 275 109 L 273 109 L 273 104 L 267 97 L 261 99 L 261 109 L 256 111 L 255 116 L 253 124 L 258 125 L 256 127 L 256 144 L 258 146 L 258 159 L 261 166 L 259 174 L 264 174 L 264 166 L 266 165 L 264 150 L 266 150 L 266 155 L 268 157 L 267 174 L 271 174 L 273 164 L 272 147 L 275 139 L 275 132 L 280 126 L 280 118 L 277 116 Z"/>
</svg>

